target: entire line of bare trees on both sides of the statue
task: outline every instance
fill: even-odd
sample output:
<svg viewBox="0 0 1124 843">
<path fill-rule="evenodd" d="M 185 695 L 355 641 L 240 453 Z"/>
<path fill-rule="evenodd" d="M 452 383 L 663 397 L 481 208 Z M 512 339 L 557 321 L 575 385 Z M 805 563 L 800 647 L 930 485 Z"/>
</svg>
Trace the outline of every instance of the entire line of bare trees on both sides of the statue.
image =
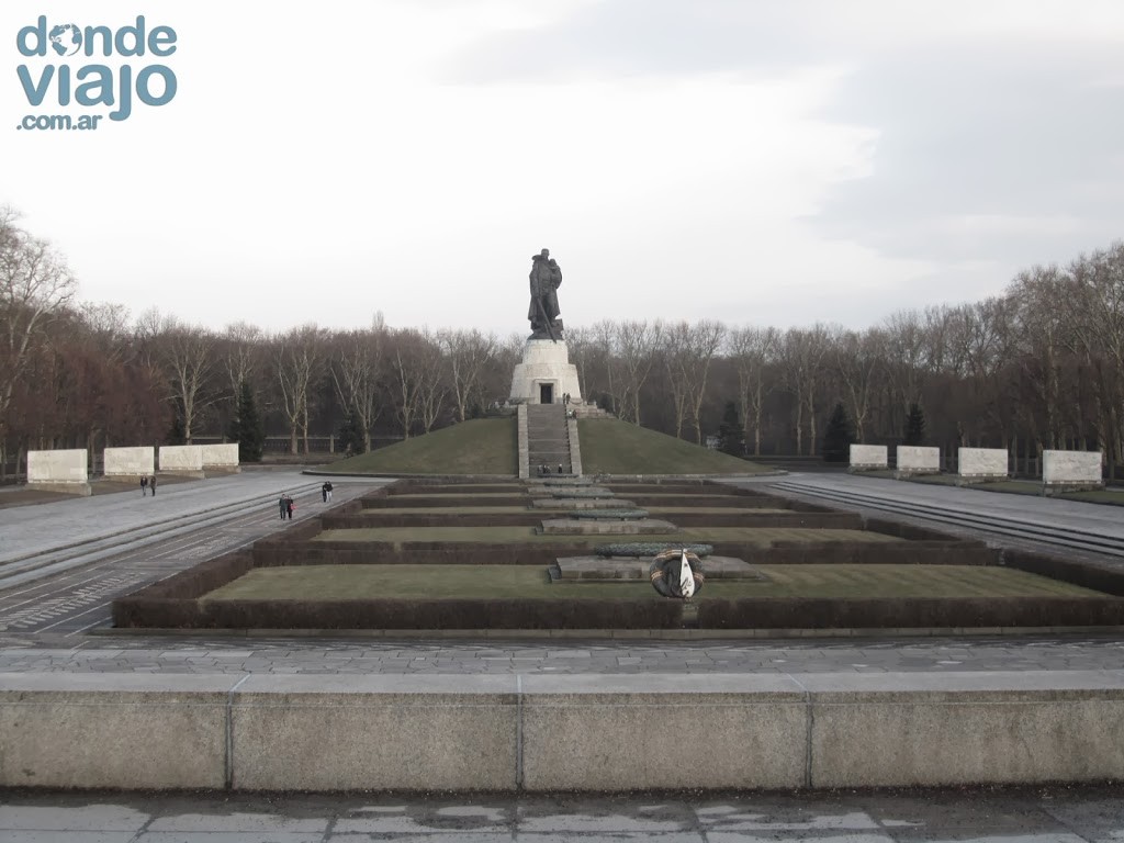
<svg viewBox="0 0 1124 843">
<path fill-rule="evenodd" d="M 375 306 L 378 302 L 372 302 Z M 214 330 L 78 299 L 52 245 L 0 209 L 0 464 L 28 450 L 334 435 L 363 451 L 495 411 L 524 334 L 250 321 Z M 842 408 L 855 441 L 1100 448 L 1124 460 L 1124 243 L 1034 266 L 1003 294 L 901 310 L 852 330 L 613 320 L 566 332 L 582 396 L 626 422 L 704 443 L 729 426 L 747 455 L 822 452 Z M 256 443 L 260 454 L 260 441 Z"/>
</svg>

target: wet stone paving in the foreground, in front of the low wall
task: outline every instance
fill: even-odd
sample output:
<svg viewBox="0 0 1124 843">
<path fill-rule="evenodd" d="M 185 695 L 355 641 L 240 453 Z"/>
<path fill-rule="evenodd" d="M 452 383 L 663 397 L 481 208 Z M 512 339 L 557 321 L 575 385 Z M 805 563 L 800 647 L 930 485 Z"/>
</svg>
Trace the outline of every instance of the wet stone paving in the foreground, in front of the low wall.
<svg viewBox="0 0 1124 843">
<path fill-rule="evenodd" d="M 595 798 L 0 791 L 4 843 L 1118 843 L 1120 787 Z"/>
</svg>

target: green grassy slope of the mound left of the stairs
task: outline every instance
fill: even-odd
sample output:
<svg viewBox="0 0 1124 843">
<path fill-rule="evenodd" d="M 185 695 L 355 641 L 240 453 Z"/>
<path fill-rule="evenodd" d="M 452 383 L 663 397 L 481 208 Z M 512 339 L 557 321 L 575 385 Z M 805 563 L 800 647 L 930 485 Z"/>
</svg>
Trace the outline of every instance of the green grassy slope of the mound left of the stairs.
<svg viewBox="0 0 1124 843">
<path fill-rule="evenodd" d="M 341 460 L 325 471 L 341 474 L 509 474 L 517 465 L 515 417 L 477 418 Z"/>
</svg>

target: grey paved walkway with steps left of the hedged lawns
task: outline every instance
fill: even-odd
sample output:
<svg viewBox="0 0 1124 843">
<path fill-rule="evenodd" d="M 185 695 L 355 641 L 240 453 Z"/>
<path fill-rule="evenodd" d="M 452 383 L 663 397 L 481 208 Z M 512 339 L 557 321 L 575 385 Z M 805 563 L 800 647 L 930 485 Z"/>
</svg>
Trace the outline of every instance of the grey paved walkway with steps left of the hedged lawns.
<svg viewBox="0 0 1124 843">
<path fill-rule="evenodd" d="M 121 492 L 0 510 L 0 647 L 73 647 L 107 626 L 112 600 L 324 511 L 323 479 L 297 470 L 169 484 L 163 498 Z M 388 482 L 337 481 L 335 506 Z"/>
</svg>

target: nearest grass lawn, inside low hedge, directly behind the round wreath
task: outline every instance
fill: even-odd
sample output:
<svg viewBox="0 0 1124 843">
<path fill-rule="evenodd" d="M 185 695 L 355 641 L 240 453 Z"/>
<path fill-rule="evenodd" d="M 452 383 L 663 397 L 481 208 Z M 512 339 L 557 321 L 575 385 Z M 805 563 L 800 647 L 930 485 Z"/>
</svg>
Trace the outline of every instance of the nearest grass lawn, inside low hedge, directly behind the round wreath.
<svg viewBox="0 0 1124 843">
<path fill-rule="evenodd" d="M 1009 568 L 957 565 L 761 565 L 768 581 L 708 580 L 713 597 L 1103 597 Z M 298 565 L 255 568 L 202 600 L 348 600 L 374 597 L 643 599 L 652 586 L 559 582 L 543 568 L 513 565 Z"/>
</svg>

